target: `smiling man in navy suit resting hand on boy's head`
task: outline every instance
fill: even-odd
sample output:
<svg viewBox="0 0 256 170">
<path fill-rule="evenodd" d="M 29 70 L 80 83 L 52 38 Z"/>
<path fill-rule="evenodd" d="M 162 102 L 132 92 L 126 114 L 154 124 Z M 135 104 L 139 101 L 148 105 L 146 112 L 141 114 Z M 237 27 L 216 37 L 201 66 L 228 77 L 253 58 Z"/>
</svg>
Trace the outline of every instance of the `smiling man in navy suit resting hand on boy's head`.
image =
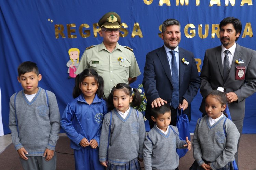
<svg viewBox="0 0 256 170">
<path fill-rule="evenodd" d="M 154 126 L 150 110 L 164 103 L 171 108 L 171 125 L 176 126 L 177 110 L 191 118 L 190 103 L 200 86 L 200 78 L 192 52 L 180 48 L 180 22 L 167 19 L 162 24 L 164 45 L 146 55 L 143 88 L 147 98 L 145 118 Z"/>
</svg>

